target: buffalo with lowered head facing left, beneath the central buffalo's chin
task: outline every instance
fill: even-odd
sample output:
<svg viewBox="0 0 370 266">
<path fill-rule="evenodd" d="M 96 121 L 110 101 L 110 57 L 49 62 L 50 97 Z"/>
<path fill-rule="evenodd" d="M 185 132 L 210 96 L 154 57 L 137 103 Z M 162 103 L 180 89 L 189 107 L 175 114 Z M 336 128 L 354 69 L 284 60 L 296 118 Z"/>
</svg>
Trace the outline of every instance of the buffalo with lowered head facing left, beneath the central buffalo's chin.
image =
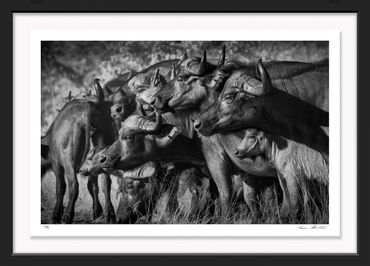
<svg viewBox="0 0 370 266">
<path fill-rule="evenodd" d="M 173 129 L 165 136 L 153 135 L 158 133 L 161 123 L 159 113 L 156 121 L 142 116 L 129 117 L 123 123 L 119 139 L 96 156 L 94 164 L 107 170 L 129 170 L 148 161 L 204 164 L 191 139 L 181 135 L 173 138 Z"/>
</svg>

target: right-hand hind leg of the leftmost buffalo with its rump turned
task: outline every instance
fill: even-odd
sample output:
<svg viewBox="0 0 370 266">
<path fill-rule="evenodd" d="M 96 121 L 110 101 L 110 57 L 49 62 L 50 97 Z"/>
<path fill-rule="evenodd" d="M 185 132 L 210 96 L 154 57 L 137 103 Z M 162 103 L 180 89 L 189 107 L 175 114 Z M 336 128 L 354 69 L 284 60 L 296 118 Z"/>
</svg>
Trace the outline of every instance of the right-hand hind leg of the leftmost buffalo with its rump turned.
<svg viewBox="0 0 370 266">
<path fill-rule="evenodd" d="M 69 224 L 73 221 L 75 214 L 75 203 L 78 198 L 78 180 L 76 172 L 73 169 L 66 170 L 66 177 L 68 180 L 68 194 L 69 200 L 67 208 L 63 214 L 62 223 Z"/>
</svg>

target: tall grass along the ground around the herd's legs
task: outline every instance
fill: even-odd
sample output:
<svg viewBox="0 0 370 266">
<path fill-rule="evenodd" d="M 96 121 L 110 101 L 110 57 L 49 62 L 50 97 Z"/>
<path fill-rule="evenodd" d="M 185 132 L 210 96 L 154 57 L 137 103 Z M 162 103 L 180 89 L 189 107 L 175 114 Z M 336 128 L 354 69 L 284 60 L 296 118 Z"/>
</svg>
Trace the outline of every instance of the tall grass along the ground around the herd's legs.
<svg viewBox="0 0 370 266">
<path fill-rule="evenodd" d="M 80 193 L 76 202 L 75 208 L 75 224 L 91 224 L 102 223 L 93 221 L 92 219 L 92 199 L 87 191 L 86 178 L 78 177 L 80 182 Z M 117 208 L 118 200 L 116 177 L 112 177 L 111 199 L 113 207 Z M 316 187 L 317 190 L 322 190 L 322 187 Z M 51 223 L 51 214 L 55 204 L 55 177 L 49 172 L 43 178 L 41 190 L 41 223 Z M 67 190 L 68 191 L 68 190 Z M 202 195 L 201 200 L 191 198 L 191 193 L 187 191 L 182 198 L 182 202 L 172 211 L 169 211 L 171 201 L 171 190 L 160 188 L 159 197 L 156 199 L 155 210 L 153 217 L 150 220 L 149 216 L 142 217 L 138 223 L 160 223 L 160 224 L 250 224 L 252 223 L 251 213 L 242 199 L 235 199 L 232 203 L 227 216 L 221 215 L 219 199 L 212 201 L 207 193 Z M 317 198 L 312 193 L 308 195 L 311 198 L 311 204 L 307 208 L 303 208 L 299 219 L 289 219 L 282 221 L 279 215 L 279 206 L 275 199 L 267 198 L 260 200 L 258 203 L 259 216 L 258 224 L 328 224 L 329 223 L 329 204 L 328 197 Z M 322 194 L 322 193 L 321 193 Z M 104 206 L 103 194 L 99 193 L 99 199 Z M 68 193 L 64 199 L 64 205 L 68 202 Z M 315 203 L 314 203 L 315 202 Z M 214 212 L 212 212 L 214 208 Z"/>
</svg>

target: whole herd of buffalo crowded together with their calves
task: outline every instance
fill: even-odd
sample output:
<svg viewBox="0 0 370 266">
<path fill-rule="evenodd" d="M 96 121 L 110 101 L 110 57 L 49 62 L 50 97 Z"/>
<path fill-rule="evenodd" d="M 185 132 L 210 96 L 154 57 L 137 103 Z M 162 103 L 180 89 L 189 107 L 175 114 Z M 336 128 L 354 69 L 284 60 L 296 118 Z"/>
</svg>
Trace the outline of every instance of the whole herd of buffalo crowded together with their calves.
<svg viewBox="0 0 370 266">
<path fill-rule="evenodd" d="M 206 52 L 184 54 L 104 86 L 95 79 L 93 95 L 69 94 L 41 138 L 42 176 L 49 169 L 56 176 L 52 222 L 73 222 L 78 173 L 88 178 L 93 218 L 104 217 L 105 223 L 151 217 L 166 186 L 170 211 L 189 191 L 201 212 L 201 190 L 207 189 L 223 216 L 230 215 L 239 189 L 253 223 L 267 188 L 274 191 L 270 196 L 283 223 L 299 220 L 312 206 L 327 209 L 322 199 L 329 197 L 328 60 L 246 64 L 226 60 L 224 46 L 215 62 Z M 119 177 L 116 210 L 111 174 Z"/>
</svg>

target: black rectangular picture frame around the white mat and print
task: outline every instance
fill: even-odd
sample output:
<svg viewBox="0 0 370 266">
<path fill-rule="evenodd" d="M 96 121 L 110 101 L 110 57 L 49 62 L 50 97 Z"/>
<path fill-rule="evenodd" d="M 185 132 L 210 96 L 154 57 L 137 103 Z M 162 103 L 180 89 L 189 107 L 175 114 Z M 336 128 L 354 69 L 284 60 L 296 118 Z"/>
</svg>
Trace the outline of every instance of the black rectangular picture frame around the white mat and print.
<svg viewBox="0 0 370 266">
<path fill-rule="evenodd" d="M 311 0 L 306 2 L 297 1 L 228 1 L 213 2 L 213 1 L 184 1 L 159 3 L 158 1 L 140 2 L 114 2 L 111 0 L 105 1 L 87 1 L 87 0 L 68 0 L 68 1 L 44 1 L 44 0 L 15 0 L 8 3 L 6 8 L 1 8 L 2 16 L 1 25 L 2 44 L 3 44 L 3 68 L 2 82 L 4 84 L 1 93 L 3 101 L 1 106 L 2 124 L 1 130 L 2 141 L 2 162 L 3 162 L 3 178 L 2 178 L 2 214 L 1 219 L 1 261 L 4 265 L 10 264 L 81 264 L 88 263 L 101 265 L 102 263 L 135 263 L 136 265 L 164 265 L 164 264 L 184 264 L 184 265 L 221 265 L 221 264 L 236 264 L 236 263 L 251 263 L 259 265 L 365 265 L 369 263 L 369 214 L 367 212 L 367 189 L 369 186 L 369 178 L 366 176 L 367 154 L 366 151 L 370 148 L 368 136 L 370 135 L 369 123 L 367 122 L 367 114 L 369 113 L 369 104 L 365 101 L 369 99 L 369 90 L 365 87 L 365 77 L 367 76 L 366 61 L 368 59 L 368 47 L 370 47 L 367 37 L 366 25 L 369 25 L 369 12 L 366 11 L 364 3 L 360 1 L 345 1 L 345 0 L 328 0 L 317 1 Z M 358 253 L 357 254 L 246 254 L 246 255 L 109 255 L 97 257 L 99 254 L 13 254 L 13 96 L 12 96 L 12 72 L 13 69 L 13 13 L 17 12 L 195 12 L 195 13 L 222 13 L 222 12 L 288 12 L 288 13 L 304 13 L 304 12 L 351 12 L 357 13 L 357 44 L 358 44 L 358 176 L 353 177 L 358 180 Z M 10 100 L 12 99 L 12 100 Z M 366 120 L 365 120 L 366 119 Z M 345 160 L 345 155 L 343 155 Z M 367 263 L 366 263 L 367 262 Z"/>
</svg>

